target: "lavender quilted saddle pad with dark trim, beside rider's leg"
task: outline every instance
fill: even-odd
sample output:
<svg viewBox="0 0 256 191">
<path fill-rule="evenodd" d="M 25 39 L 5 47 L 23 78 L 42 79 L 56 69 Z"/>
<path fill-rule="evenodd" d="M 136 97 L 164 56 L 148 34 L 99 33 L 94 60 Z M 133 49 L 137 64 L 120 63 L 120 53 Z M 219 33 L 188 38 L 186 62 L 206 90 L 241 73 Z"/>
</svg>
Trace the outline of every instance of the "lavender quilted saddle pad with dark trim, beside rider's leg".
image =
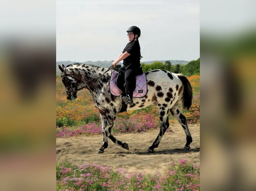
<svg viewBox="0 0 256 191">
<path fill-rule="evenodd" d="M 119 96 L 122 91 L 117 87 L 116 84 L 117 72 L 112 70 L 110 79 L 110 92 L 112 95 Z M 143 97 L 147 93 L 147 79 L 145 73 L 136 76 L 136 88 L 133 92 L 133 97 Z"/>
</svg>

